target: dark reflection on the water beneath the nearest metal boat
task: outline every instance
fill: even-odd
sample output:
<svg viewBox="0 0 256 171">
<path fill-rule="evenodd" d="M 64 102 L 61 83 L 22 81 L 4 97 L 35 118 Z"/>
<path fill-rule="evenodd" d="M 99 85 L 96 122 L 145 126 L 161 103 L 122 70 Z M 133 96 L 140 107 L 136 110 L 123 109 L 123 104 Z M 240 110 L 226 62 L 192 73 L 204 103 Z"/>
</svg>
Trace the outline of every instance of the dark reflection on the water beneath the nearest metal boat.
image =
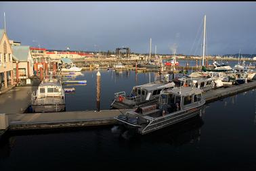
<svg viewBox="0 0 256 171">
<path fill-rule="evenodd" d="M 200 112 L 199 112 L 200 113 Z M 120 126 L 114 126 L 112 133 L 123 137 L 129 141 L 145 141 L 148 143 L 168 143 L 174 147 L 179 147 L 186 143 L 194 143 L 200 141 L 200 128 L 204 124 L 200 114 L 173 124 L 172 126 L 165 127 L 161 130 L 151 132 L 148 135 L 136 134 L 134 130 L 126 130 Z"/>
</svg>

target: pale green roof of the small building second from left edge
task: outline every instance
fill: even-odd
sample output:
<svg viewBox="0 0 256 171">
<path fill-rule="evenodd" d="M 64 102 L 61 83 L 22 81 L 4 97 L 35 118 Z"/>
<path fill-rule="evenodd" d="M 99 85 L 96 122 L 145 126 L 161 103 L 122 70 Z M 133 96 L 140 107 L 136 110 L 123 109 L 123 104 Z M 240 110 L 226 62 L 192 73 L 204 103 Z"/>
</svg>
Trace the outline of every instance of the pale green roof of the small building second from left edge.
<svg viewBox="0 0 256 171">
<path fill-rule="evenodd" d="M 14 59 L 28 61 L 29 46 L 12 46 Z"/>
</svg>

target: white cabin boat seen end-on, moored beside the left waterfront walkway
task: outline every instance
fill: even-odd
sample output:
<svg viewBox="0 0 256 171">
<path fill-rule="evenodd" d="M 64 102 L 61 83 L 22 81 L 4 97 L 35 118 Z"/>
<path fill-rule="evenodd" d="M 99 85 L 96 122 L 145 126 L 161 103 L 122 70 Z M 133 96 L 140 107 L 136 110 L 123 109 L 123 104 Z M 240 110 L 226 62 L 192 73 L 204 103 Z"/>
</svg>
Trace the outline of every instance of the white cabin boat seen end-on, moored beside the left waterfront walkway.
<svg viewBox="0 0 256 171">
<path fill-rule="evenodd" d="M 65 92 L 57 78 L 45 78 L 31 96 L 33 112 L 62 112 L 65 110 Z"/>
</svg>

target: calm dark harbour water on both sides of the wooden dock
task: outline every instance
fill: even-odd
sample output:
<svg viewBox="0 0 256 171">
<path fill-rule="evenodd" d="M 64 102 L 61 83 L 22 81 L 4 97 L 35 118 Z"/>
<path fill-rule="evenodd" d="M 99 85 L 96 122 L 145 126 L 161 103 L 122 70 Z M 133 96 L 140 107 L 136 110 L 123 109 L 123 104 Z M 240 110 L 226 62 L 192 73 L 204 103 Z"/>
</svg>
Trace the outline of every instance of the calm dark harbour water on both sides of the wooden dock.
<svg viewBox="0 0 256 171">
<path fill-rule="evenodd" d="M 95 109 L 97 71 L 66 96 L 68 110 Z M 149 74 L 102 74 L 102 109 L 116 91 L 131 91 Z M 150 80 L 154 73 L 150 74 Z M 10 132 L 0 143 L 0 170 L 256 170 L 256 90 L 208 103 L 186 122 L 140 136 L 116 126 Z"/>
</svg>

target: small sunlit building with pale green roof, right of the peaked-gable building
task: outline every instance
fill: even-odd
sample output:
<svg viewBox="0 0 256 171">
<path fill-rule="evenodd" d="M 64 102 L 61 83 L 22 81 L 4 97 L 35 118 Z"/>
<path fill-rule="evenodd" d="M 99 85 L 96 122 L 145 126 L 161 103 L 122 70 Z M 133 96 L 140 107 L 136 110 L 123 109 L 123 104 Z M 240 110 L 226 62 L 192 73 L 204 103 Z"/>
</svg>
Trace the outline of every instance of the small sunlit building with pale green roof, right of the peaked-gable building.
<svg viewBox="0 0 256 171">
<path fill-rule="evenodd" d="M 12 46 L 12 51 L 14 60 L 18 62 L 18 64 L 14 64 L 14 75 L 16 76 L 16 66 L 18 66 L 19 78 L 30 78 L 30 76 L 33 76 L 34 62 L 29 46 Z"/>
</svg>

